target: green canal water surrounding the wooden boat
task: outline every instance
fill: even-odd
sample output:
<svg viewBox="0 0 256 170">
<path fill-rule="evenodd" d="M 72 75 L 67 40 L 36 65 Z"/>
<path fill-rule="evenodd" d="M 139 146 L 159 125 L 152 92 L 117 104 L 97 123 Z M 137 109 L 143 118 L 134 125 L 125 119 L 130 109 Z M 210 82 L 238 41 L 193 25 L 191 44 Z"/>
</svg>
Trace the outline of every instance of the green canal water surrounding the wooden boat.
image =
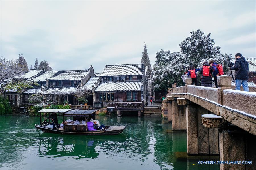
<svg viewBox="0 0 256 170">
<path fill-rule="evenodd" d="M 219 169 L 197 164 L 218 156 L 187 156 L 186 132 L 172 131 L 166 119 L 96 119 L 126 129 L 113 136 L 55 135 L 34 128 L 39 117 L 1 115 L 0 169 Z"/>
</svg>

